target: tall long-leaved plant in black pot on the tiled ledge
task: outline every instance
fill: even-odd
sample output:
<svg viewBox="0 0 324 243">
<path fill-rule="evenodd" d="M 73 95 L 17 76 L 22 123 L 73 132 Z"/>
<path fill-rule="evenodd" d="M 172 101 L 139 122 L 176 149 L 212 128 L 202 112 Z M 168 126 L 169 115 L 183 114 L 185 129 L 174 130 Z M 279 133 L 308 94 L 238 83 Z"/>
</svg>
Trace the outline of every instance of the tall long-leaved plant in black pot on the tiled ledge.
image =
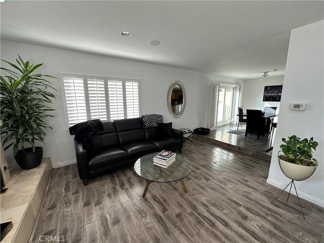
<svg viewBox="0 0 324 243">
<path fill-rule="evenodd" d="M 17 164 L 22 169 L 39 166 L 43 159 L 43 148 L 36 147 L 35 142 L 44 143 L 47 129 L 52 129 L 47 123 L 48 117 L 54 117 L 49 112 L 54 111 L 48 106 L 55 98 L 50 90 L 55 90 L 46 77 L 35 73 L 41 64 L 30 64 L 18 55 L 17 64 L 2 60 L 13 69 L 1 67 L 9 75 L 1 75 L 1 106 L 0 113 L 3 125 L 1 134 L 5 150 L 13 145 L 13 154 Z M 26 144 L 31 147 L 25 147 Z M 45 143 L 44 143 L 45 144 Z"/>
</svg>

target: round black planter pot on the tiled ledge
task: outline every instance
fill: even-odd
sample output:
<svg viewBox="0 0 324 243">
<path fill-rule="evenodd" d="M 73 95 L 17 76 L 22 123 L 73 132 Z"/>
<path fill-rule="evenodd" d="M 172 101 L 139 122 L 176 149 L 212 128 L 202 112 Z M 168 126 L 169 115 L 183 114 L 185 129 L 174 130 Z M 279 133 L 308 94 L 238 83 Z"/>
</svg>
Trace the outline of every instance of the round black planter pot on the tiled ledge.
<svg viewBox="0 0 324 243">
<path fill-rule="evenodd" d="M 32 148 L 25 148 L 25 152 L 20 149 L 15 159 L 17 164 L 24 170 L 35 168 L 42 163 L 43 148 L 35 147 L 35 152 L 32 151 Z"/>
</svg>

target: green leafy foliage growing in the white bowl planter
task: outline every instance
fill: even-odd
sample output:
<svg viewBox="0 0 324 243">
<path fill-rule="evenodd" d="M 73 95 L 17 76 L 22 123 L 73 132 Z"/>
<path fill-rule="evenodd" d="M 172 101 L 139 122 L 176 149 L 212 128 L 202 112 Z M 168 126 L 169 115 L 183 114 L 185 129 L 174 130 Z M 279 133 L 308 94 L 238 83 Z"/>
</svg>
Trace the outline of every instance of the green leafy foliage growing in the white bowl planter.
<svg viewBox="0 0 324 243">
<path fill-rule="evenodd" d="M 280 149 L 284 155 L 280 154 L 279 158 L 297 165 L 318 165 L 317 160 L 313 158 L 313 150 L 316 150 L 318 142 L 314 141 L 313 137 L 301 139 L 293 135 L 288 139 L 282 138 L 282 142 L 284 143 L 280 145 Z"/>
</svg>

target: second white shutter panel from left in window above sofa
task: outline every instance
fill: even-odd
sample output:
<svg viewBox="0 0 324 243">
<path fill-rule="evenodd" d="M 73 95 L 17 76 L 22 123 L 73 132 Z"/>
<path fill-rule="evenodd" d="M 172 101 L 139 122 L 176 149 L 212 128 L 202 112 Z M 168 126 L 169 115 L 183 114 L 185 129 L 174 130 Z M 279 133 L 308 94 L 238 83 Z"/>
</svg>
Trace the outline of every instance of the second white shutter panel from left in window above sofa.
<svg viewBox="0 0 324 243">
<path fill-rule="evenodd" d="M 107 121 L 104 78 L 88 78 L 87 82 L 91 119 Z"/>
</svg>

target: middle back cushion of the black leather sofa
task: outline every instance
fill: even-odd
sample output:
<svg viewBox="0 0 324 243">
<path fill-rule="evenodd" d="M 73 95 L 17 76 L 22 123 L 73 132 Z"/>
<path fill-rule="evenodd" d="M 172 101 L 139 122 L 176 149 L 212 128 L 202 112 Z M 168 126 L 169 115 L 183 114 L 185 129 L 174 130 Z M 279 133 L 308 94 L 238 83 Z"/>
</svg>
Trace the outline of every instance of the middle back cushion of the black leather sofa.
<svg viewBox="0 0 324 243">
<path fill-rule="evenodd" d="M 146 141 L 140 118 L 129 118 L 114 121 L 120 145 Z"/>
</svg>

